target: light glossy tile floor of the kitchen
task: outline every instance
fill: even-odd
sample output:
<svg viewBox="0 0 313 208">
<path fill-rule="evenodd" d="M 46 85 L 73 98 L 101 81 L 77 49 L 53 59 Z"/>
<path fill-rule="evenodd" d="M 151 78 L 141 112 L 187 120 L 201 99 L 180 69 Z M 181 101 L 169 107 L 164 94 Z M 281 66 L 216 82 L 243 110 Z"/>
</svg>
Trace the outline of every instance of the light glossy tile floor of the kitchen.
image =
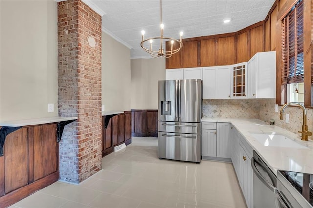
<svg viewBox="0 0 313 208">
<path fill-rule="evenodd" d="M 159 160 L 157 138 L 102 159 L 79 185 L 56 182 L 10 208 L 246 208 L 231 163 Z"/>
</svg>

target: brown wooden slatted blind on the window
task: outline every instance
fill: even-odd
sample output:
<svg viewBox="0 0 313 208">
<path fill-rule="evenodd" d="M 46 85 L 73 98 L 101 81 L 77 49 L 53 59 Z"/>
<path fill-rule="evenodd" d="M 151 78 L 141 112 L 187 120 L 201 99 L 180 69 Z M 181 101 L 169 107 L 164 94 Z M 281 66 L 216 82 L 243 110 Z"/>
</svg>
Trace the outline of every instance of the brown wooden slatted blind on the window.
<svg viewBox="0 0 313 208">
<path fill-rule="evenodd" d="M 304 82 L 303 0 L 282 20 L 282 84 Z"/>
</svg>

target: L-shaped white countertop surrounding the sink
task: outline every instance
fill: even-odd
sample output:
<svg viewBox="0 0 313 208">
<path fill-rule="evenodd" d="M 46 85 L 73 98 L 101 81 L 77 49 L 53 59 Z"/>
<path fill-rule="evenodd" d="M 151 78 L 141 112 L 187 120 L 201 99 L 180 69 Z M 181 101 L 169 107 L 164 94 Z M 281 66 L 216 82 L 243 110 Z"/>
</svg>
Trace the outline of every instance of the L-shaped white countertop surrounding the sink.
<svg viewBox="0 0 313 208">
<path fill-rule="evenodd" d="M 313 141 L 310 139 L 302 141 L 297 134 L 278 126 L 268 125 L 258 119 L 202 118 L 201 122 L 231 123 L 275 174 L 278 169 L 313 174 Z M 263 146 L 250 132 L 283 134 L 307 146 L 308 149 Z"/>
</svg>

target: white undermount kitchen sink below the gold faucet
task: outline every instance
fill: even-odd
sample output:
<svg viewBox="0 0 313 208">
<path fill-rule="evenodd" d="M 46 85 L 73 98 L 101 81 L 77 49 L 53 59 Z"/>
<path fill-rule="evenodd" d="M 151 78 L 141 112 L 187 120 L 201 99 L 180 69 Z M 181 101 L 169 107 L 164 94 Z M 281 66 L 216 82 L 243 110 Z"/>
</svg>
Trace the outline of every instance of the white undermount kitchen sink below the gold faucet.
<svg viewBox="0 0 313 208">
<path fill-rule="evenodd" d="M 250 133 L 263 146 L 277 146 L 297 149 L 308 149 L 307 146 L 296 142 L 282 134 L 276 133 Z"/>
</svg>

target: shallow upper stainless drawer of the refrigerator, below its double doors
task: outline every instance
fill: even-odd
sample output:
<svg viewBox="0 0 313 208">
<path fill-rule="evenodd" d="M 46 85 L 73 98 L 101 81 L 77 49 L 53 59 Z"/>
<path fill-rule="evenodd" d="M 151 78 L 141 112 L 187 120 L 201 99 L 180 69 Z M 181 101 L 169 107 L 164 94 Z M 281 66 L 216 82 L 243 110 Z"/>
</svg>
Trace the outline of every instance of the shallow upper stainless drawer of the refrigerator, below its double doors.
<svg viewBox="0 0 313 208">
<path fill-rule="evenodd" d="M 201 123 L 158 122 L 158 130 L 173 133 L 200 134 Z"/>
</svg>

